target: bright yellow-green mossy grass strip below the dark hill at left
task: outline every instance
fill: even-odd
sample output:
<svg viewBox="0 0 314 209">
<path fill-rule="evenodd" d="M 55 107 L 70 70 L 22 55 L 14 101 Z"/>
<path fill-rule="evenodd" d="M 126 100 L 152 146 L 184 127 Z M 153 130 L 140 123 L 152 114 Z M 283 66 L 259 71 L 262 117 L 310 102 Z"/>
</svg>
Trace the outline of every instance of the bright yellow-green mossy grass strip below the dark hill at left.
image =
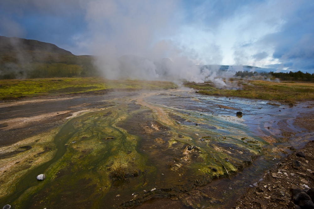
<svg viewBox="0 0 314 209">
<path fill-rule="evenodd" d="M 168 81 L 115 81 L 100 77 L 89 78 L 44 78 L 23 80 L 0 80 L 0 100 L 13 100 L 23 97 L 58 96 L 102 90 L 160 90 L 175 89 Z"/>
</svg>

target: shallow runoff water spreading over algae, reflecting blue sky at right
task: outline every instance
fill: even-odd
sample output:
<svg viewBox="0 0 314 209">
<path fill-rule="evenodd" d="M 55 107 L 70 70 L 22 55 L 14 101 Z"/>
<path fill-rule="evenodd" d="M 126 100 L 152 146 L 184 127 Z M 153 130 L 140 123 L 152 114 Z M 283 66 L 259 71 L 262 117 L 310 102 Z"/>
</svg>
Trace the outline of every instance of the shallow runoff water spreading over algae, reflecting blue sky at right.
<svg viewBox="0 0 314 209">
<path fill-rule="evenodd" d="M 306 103 L 278 107 L 262 100 L 198 95 L 187 88 L 112 92 L 88 100 L 112 105 L 69 120 L 54 138 L 54 157 L 22 176 L 1 204 L 127 208 L 203 186 L 212 198 L 201 198 L 199 204 L 228 208 L 290 153 L 290 146 L 298 148 L 312 137 L 292 120 L 309 111 L 299 109 Z M 282 127 L 299 133 L 287 140 Z M 112 172 L 120 168 L 125 179 L 114 180 Z M 46 179 L 37 181 L 41 173 Z M 222 176 L 227 178 L 212 181 Z M 197 202 L 182 202 L 198 207 Z"/>
</svg>

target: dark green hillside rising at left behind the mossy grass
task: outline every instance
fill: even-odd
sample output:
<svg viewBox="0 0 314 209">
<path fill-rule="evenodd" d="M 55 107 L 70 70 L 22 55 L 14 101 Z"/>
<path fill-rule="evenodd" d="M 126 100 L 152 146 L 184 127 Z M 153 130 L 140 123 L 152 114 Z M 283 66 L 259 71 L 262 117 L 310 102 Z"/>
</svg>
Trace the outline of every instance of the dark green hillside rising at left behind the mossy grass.
<svg viewBox="0 0 314 209">
<path fill-rule="evenodd" d="M 0 79 L 99 76 L 93 61 L 55 44 L 0 36 Z"/>
</svg>

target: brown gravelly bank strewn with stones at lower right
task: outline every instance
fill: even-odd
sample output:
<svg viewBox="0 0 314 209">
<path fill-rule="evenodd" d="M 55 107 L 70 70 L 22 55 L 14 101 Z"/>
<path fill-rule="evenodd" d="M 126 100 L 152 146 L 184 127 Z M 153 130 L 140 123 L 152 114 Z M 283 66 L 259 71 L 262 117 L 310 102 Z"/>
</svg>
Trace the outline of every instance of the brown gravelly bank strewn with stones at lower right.
<svg viewBox="0 0 314 209">
<path fill-rule="evenodd" d="M 294 124 L 314 131 L 314 112 L 300 114 Z M 313 139 L 314 139 L 314 134 Z M 291 147 L 293 149 L 293 147 Z M 297 152 L 303 152 L 305 157 L 297 156 Z M 301 167 L 293 167 L 293 161 L 298 160 Z M 249 188 L 236 202 L 237 209 L 262 208 L 294 208 L 291 201 L 291 189 L 299 188 L 307 191 L 314 188 L 314 140 L 309 141 L 303 148 L 294 150 L 292 154 L 282 158 L 278 166 L 265 173 L 263 180 L 254 188 Z M 314 200 L 313 200 L 314 201 Z"/>
</svg>

